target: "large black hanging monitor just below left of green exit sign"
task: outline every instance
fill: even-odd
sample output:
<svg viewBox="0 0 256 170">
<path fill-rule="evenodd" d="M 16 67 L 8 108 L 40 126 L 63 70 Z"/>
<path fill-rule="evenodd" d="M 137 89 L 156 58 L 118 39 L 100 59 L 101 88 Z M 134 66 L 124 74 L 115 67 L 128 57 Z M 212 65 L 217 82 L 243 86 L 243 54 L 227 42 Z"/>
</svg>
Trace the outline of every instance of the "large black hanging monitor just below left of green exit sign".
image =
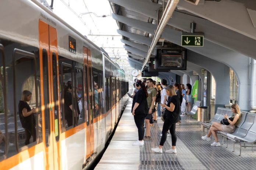
<svg viewBox="0 0 256 170">
<path fill-rule="evenodd" d="M 186 70 L 186 50 L 156 49 L 155 69 Z"/>
</svg>

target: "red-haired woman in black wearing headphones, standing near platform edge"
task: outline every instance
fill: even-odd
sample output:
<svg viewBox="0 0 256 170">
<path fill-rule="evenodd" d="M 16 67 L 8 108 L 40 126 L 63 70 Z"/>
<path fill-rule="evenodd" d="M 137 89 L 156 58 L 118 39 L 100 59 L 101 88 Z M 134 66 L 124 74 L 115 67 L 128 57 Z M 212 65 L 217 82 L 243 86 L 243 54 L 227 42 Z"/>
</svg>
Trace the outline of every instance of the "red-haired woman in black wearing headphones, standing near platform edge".
<svg viewBox="0 0 256 170">
<path fill-rule="evenodd" d="M 134 121 L 138 128 L 139 140 L 133 143 L 132 145 L 144 145 L 143 136 L 144 136 L 144 127 L 143 123 L 145 121 L 146 113 L 148 113 L 147 108 L 147 89 L 141 80 L 137 80 L 136 89 L 138 91 L 135 93 L 132 101 L 132 115 L 134 115 Z"/>
</svg>

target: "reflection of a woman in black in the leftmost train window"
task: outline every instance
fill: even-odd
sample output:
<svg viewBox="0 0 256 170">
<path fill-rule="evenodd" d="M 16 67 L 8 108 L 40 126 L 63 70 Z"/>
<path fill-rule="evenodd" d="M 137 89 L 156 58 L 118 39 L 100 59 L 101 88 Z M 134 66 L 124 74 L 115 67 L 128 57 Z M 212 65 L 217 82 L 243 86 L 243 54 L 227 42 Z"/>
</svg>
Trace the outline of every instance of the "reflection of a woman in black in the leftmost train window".
<svg viewBox="0 0 256 170">
<path fill-rule="evenodd" d="M 19 100 L 19 120 L 21 121 L 21 126 L 25 129 L 26 139 L 25 145 L 29 144 L 31 136 L 33 137 L 33 142 L 36 141 L 36 118 L 33 113 L 36 112 L 35 108 L 30 108 L 27 101 L 30 101 L 32 93 L 28 90 L 22 92 L 21 100 Z"/>
</svg>

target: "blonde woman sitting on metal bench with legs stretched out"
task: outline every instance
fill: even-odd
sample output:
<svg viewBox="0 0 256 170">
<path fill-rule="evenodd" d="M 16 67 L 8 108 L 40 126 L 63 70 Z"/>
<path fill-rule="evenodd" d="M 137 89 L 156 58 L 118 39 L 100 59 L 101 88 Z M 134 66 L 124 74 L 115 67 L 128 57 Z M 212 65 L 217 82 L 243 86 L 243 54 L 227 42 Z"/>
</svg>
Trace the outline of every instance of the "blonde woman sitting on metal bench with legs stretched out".
<svg viewBox="0 0 256 170">
<path fill-rule="evenodd" d="M 211 146 L 219 147 L 220 143 L 218 141 L 216 131 L 223 131 L 223 132 L 226 132 L 226 133 L 233 133 L 235 131 L 235 126 L 238 125 L 238 123 L 241 121 L 241 119 L 240 119 L 241 118 L 241 112 L 240 112 L 240 108 L 237 104 L 233 104 L 231 106 L 231 111 L 233 112 L 233 116 L 232 116 L 233 121 L 231 121 L 228 118 L 228 115 L 225 114 L 224 119 L 227 119 L 228 123 L 230 123 L 230 124 L 229 125 L 223 125 L 223 124 L 218 123 L 218 122 L 213 122 L 213 124 L 210 127 L 210 130 L 209 130 L 208 134 L 205 135 L 205 136 L 202 136 L 202 140 L 210 141 L 211 140 L 210 136 L 212 134 L 215 141 L 211 144 Z"/>
</svg>

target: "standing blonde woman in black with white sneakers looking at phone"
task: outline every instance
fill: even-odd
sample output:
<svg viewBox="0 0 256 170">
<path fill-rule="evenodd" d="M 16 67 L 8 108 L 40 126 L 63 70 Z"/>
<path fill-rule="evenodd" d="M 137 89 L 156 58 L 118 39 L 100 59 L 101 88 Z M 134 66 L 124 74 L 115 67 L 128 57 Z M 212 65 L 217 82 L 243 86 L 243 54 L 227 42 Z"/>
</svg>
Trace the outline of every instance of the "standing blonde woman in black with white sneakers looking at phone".
<svg viewBox="0 0 256 170">
<path fill-rule="evenodd" d="M 177 137 L 176 137 L 175 127 L 176 127 L 176 123 L 179 121 L 179 111 L 181 109 L 180 107 L 181 105 L 173 86 L 171 85 L 167 86 L 166 93 L 168 96 L 171 97 L 171 99 L 168 101 L 167 105 L 161 104 L 161 106 L 165 107 L 167 111 L 166 119 L 164 120 L 161 141 L 160 141 L 159 147 L 151 148 L 151 150 L 154 152 L 163 153 L 162 148 L 167 138 L 167 132 L 168 130 L 170 130 L 172 147 L 171 149 L 167 150 L 166 153 L 175 154 L 177 153 L 176 151 Z"/>
</svg>

